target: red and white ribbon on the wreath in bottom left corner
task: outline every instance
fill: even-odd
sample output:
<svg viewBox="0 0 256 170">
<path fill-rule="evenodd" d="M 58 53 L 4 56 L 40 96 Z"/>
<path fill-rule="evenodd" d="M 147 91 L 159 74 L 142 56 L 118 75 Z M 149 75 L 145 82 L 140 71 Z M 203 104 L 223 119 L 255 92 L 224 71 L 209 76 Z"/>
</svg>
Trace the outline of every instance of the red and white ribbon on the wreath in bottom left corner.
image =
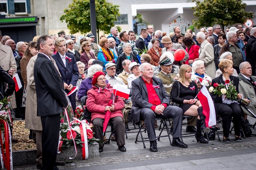
<svg viewBox="0 0 256 170">
<path fill-rule="evenodd" d="M 0 133 L 0 160 L 2 164 L 2 169 L 6 168 L 7 170 L 12 170 L 12 140 L 11 140 L 11 129 L 8 122 L 3 119 L 0 120 L 0 123 L 4 124 L 4 139 L 5 139 L 5 154 L 3 148 L 3 139 L 2 134 Z"/>
</svg>

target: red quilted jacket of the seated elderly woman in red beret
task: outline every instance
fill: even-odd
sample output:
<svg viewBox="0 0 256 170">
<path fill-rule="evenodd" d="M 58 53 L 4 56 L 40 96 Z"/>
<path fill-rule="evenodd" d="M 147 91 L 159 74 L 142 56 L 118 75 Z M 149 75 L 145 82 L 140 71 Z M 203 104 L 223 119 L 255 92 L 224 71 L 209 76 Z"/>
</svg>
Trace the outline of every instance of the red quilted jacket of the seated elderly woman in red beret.
<svg viewBox="0 0 256 170">
<path fill-rule="evenodd" d="M 93 86 L 93 89 L 88 90 L 87 95 L 88 98 L 86 100 L 86 107 L 88 111 L 91 112 L 91 120 L 95 118 L 105 118 L 105 107 L 108 105 L 109 101 L 111 100 L 111 94 L 113 93 L 113 88 L 109 87 L 111 91 L 107 89 L 101 90 L 99 93 L 99 88 Z M 125 106 L 124 101 L 118 96 L 115 98 L 114 102 L 115 109 L 111 112 L 110 118 L 121 116 L 123 118 L 122 109 Z"/>
</svg>

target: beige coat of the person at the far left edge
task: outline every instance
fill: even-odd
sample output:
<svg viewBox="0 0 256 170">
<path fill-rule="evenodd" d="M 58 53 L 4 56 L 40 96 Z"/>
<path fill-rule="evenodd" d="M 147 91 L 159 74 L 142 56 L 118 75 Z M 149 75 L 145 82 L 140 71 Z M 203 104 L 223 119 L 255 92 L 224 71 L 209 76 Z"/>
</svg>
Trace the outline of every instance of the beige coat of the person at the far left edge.
<svg viewBox="0 0 256 170">
<path fill-rule="evenodd" d="M 17 65 L 15 62 L 15 58 L 12 52 L 11 47 L 4 46 L 0 43 L 0 66 L 5 70 L 16 70 Z M 17 71 L 14 71 L 13 77 L 16 74 Z M 11 96 L 11 104 L 12 108 L 16 108 L 16 100 L 15 100 L 15 92 L 13 92 L 13 95 Z"/>
</svg>

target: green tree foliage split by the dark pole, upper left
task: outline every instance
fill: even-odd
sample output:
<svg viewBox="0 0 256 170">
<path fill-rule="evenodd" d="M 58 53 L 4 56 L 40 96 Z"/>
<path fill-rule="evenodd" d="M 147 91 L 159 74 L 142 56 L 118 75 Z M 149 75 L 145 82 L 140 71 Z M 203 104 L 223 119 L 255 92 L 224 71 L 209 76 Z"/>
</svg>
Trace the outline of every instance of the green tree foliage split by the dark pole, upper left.
<svg viewBox="0 0 256 170">
<path fill-rule="evenodd" d="M 106 0 L 95 1 L 98 36 L 99 30 L 108 34 L 110 28 L 115 26 L 114 21 L 116 21 L 117 16 L 120 15 L 118 7 L 118 5 L 113 5 Z M 65 14 L 60 17 L 60 20 L 62 22 L 65 20 L 70 33 L 81 32 L 85 34 L 91 31 L 90 0 L 73 0 L 69 8 L 64 10 L 64 13 Z"/>
</svg>

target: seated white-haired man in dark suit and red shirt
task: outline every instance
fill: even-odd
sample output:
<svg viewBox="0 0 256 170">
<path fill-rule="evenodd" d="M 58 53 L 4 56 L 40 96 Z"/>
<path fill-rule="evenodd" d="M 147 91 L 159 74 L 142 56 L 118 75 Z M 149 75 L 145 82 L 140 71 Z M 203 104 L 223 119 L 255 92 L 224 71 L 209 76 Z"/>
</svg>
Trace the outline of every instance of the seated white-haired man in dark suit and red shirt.
<svg viewBox="0 0 256 170">
<path fill-rule="evenodd" d="M 131 115 L 134 122 L 144 120 L 150 151 L 157 152 L 155 118 L 173 120 L 172 146 L 186 148 L 187 145 L 179 138 L 182 130 L 183 111 L 176 106 L 169 106 L 170 98 L 163 87 L 162 80 L 153 77 L 152 66 L 149 63 L 140 65 L 141 76 L 132 81 Z"/>
</svg>

